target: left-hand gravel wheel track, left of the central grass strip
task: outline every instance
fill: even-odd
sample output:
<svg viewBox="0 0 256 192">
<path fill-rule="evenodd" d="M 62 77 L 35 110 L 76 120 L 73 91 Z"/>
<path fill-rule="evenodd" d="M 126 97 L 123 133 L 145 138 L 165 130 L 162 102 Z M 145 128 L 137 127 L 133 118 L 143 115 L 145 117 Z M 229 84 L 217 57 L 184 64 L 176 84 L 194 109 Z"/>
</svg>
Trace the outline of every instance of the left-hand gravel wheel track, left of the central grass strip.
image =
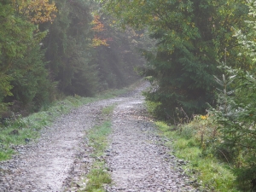
<svg viewBox="0 0 256 192">
<path fill-rule="evenodd" d="M 90 103 L 63 115 L 51 127 L 44 128 L 37 143 L 19 146 L 13 160 L 0 162 L 0 191 L 62 191 L 73 172 L 81 151 L 90 148 L 84 143 L 84 131 L 96 124 L 103 107 L 120 98 Z"/>
</svg>

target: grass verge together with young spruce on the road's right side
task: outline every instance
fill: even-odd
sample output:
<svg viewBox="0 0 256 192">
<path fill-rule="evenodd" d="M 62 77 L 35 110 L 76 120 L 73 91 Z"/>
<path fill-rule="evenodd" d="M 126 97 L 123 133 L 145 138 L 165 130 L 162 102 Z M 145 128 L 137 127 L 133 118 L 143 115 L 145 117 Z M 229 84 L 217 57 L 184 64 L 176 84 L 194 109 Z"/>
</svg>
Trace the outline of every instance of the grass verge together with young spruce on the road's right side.
<svg viewBox="0 0 256 192">
<path fill-rule="evenodd" d="M 160 135 L 170 142 L 166 146 L 180 159 L 187 160 L 184 170 L 194 178 L 196 187 L 212 191 L 254 191 L 255 174 L 255 93 L 256 80 L 252 73 L 233 69 L 223 62 L 219 66 L 222 79 L 217 105 L 209 105 L 207 114 L 191 119 L 183 108 L 176 109 L 174 124 L 155 124 Z M 154 114 L 158 103 L 147 102 Z M 193 180 L 193 179 L 192 179 Z"/>
</svg>

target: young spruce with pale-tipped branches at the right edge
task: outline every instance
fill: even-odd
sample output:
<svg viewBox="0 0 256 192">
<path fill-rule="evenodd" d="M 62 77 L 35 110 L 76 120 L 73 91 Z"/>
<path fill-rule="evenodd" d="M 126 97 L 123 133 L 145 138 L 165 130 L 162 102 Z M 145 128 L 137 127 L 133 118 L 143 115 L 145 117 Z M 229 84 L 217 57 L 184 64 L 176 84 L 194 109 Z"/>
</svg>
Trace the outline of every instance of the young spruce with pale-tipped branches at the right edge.
<svg viewBox="0 0 256 192">
<path fill-rule="evenodd" d="M 254 190 L 256 175 L 251 171 L 256 167 L 255 77 L 231 67 L 224 67 L 224 72 L 229 82 L 233 82 L 235 90 L 230 91 L 234 94 L 229 96 L 225 80 L 223 93 L 219 94 L 218 108 L 212 109 L 223 141 L 219 145 L 227 154 L 231 154 L 241 189 Z"/>
</svg>

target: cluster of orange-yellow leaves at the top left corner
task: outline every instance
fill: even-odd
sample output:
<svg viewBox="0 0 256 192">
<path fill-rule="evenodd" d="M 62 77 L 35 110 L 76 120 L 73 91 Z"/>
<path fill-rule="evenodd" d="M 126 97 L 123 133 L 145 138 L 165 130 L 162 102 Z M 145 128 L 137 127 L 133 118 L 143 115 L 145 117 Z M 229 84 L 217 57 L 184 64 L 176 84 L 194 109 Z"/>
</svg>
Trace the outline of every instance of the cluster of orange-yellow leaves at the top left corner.
<svg viewBox="0 0 256 192">
<path fill-rule="evenodd" d="M 20 15 L 34 24 L 52 22 L 56 17 L 55 3 L 49 3 L 49 0 L 12 0 L 12 3 Z"/>
</svg>

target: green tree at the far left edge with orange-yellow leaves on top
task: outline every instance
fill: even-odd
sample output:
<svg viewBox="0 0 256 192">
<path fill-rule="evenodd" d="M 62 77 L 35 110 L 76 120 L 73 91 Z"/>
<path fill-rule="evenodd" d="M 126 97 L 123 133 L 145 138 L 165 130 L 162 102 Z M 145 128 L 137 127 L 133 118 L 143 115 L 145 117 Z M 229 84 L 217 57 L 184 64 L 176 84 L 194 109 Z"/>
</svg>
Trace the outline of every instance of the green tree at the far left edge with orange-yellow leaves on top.
<svg viewBox="0 0 256 192">
<path fill-rule="evenodd" d="M 38 26 L 34 24 L 36 20 L 49 20 L 45 15 L 48 3 L 43 4 L 43 1 L 0 3 L 1 112 L 7 110 L 7 103 L 14 100 L 27 110 L 37 110 L 42 103 L 49 102 L 49 93 L 46 92 L 53 86 L 44 67 L 44 51 L 39 45 L 47 32 L 38 32 Z"/>
</svg>

